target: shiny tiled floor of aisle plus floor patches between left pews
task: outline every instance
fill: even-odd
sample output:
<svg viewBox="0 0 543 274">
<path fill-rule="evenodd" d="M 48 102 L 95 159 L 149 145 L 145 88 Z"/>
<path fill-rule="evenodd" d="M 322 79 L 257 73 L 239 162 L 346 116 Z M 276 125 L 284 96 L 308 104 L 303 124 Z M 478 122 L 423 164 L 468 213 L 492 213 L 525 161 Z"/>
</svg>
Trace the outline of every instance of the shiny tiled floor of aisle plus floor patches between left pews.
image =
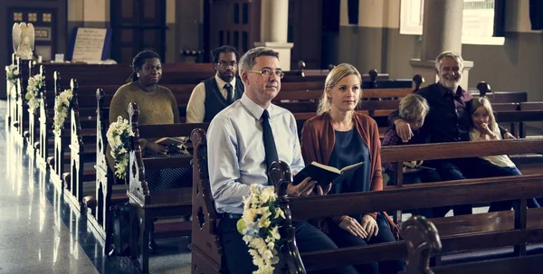
<svg viewBox="0 0 543 274">
<path fill-rule="evenodd" d="M 0 274 L 138 273 L 126 260 L 107 257 L 85 218 L 5 127 L 0 100 Z M 189 239 L 159 241 L 150 273 L 190 273 Z"/>
</svg>

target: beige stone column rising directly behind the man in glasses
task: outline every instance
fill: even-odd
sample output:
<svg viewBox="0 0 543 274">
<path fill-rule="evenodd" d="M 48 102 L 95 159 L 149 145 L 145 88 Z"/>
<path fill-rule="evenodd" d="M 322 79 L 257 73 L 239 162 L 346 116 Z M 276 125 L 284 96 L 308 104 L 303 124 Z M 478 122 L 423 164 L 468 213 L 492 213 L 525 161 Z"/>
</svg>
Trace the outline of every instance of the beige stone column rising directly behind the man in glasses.
<svg viewBox="0 0 543 274">
<path fill-rule="evenodd" d="M 289 31 L 289 0 L 262 0 L 261 41 L 254 46 L 264 46 L 279 52 L 283 71 L 291 71 L 291 49 L 287 42 Z"/>
</svg>

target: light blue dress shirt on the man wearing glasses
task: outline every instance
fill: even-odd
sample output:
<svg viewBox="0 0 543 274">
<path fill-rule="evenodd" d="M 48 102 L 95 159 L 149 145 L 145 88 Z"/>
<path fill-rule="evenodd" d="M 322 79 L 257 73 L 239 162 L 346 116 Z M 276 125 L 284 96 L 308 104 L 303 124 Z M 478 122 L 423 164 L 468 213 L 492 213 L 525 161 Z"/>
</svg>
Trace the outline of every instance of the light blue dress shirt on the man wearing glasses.
<svg viewBox="0 0 543 274">
<path fill-rule="evenodd" d="M 218 213 L 243 213 L 243 197 L 251 184 L 268 186 L 262 139 L 264 109 L 247 95 L 219 112 L 207 130 L 209 181 Z M 268 107 L 270 126 L 279 159 L 292 174 L 303 167 L 294 115 L 273 104 Z"/>
</svg>

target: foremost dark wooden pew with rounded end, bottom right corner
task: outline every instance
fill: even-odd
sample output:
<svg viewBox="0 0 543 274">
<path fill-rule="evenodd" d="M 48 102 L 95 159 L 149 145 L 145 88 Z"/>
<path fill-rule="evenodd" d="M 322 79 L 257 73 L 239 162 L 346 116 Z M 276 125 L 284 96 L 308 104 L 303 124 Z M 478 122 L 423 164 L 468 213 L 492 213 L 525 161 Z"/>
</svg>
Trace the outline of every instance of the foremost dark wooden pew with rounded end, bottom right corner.
<svg viewBox="0 0 543 274">
<path fill-rule="evenodd" d="M 539 273 L 543 255 L 531 255 L 499 260 L 485 260 L 431 268 L 432 254 L 442 250 L 442 241 L 433 222 L 424 217 L 412 217 L 402 226 L 408 250 L 405 274 L 427 273 Z"/>
</svg>

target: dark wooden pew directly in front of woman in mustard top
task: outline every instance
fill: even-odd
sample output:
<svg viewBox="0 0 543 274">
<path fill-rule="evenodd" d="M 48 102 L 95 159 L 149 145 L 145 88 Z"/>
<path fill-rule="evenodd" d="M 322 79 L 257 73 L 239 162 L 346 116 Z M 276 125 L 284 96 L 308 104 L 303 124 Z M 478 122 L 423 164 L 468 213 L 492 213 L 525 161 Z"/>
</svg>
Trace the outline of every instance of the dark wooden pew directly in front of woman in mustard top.
<svg viewBox="0 0 543 274">
<path fill-rule="evenodd" d="M 129 149 L 129 203 L 138 208 L 139 240 L 138 252 L 133 249 L 132 256 L 138 261 L 138 268 L 148 272 L 148 242 L 151 240 L 151 228 L 155 218 L 171 218 L 192 213 L 192 188 L 152 190 L 146 180 L 146 171 L 151 169 L 189 167 L 191 157 L 143 158 L 139 143 L 140 137 L 183 137 L 189 136 L 194 128 L 206 127 L 205 124 L 140 125 L 138 126 L 138 106 L 129 104 L 130 126 L 134 132 L 132 148 Z M 158 224 L 154 225 L 154 238 L 171 238 L 190 235 L 189 222 L 177 223 L 178 230 L 160 235 Z"/>
</svg>

